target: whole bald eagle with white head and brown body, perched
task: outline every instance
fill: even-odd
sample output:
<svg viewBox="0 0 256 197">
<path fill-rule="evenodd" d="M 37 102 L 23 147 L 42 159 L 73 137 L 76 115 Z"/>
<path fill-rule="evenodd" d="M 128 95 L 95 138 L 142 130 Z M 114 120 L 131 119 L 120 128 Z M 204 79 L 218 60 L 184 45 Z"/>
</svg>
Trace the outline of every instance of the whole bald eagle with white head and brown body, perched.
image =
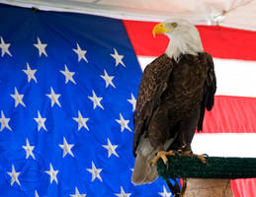
<svg viewBox="0 0 256 197">
<path fill-rule="evenodd" d="M 133 116 L 133 184 L 154 181 L 155 163 L 162 158 L 167 164 L 166 155 L 193 155 L 192 139 L 196 128 L 203 129 L 205 110 L 213 108 L 216 90 L 213 57 L 203 52 L 194 25 L 167 20 L 152 32 L 164 33 L 170 41 L 165 53 L 146 66 L 139 84 Z"/>
</svg>

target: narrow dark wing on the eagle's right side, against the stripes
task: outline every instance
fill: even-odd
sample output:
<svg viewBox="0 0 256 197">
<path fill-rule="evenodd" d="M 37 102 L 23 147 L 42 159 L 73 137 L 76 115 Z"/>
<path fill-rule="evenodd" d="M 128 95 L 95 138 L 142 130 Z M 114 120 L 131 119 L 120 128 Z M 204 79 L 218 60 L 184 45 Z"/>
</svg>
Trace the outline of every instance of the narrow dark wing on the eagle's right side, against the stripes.
<svg viewBox="0 0 256 197">
<path fill-rule="evenodd" d="M 213 104 L 214 104 L 214 94 L 216 91 L 216 78 L 214 73 L 214 64 L 213 64 L 213 57 L 209 53 L 204 53 L 205 58 L 203 58 L 203 63 L 206 63 L 209 67 L 207 80 L 205 83 L 205 92 L 204 92 L 204 98 L 201 103 L 201 113 L 200 113 L 200 119 L 198 123 L 198 131 L 203 130 L 203 121 L 205 117 L 205 111 L 206 108 L 208 110 L 212 110 Z"/>
</svg>

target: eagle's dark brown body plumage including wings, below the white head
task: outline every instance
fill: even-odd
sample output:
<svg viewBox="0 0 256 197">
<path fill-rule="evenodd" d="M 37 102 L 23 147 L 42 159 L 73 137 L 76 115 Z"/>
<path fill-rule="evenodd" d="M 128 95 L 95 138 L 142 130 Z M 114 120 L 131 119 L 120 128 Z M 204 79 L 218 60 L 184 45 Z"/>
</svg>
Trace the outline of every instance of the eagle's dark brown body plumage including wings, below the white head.
<svg viewBox="0 0 256 197">
<path fill-rule="evenodd" d="M 208 89 L 211 88 L 213 91 L 209 96 Z M 202 128 L 199 125 L 204 118 L 201 110 L 205 111 L 207 104 L 213 106 L 204 99 L 211 97 L 209 100 L 213 100 L 214 91 L 213 59 L 208 53 L 183 55 L 178 63 L 163 54 L 147 65 L 139 85 L 134 114 L 134 156 L 144 132 L 154 149 L 176 133 L 178 136 L 170 147 L 172 150 L 190 145 L 196 127 Z M 183 134 L 189 134 L 189 137 Z M 187 139 L 182 139 L 182 136 Z"/>
</svg>

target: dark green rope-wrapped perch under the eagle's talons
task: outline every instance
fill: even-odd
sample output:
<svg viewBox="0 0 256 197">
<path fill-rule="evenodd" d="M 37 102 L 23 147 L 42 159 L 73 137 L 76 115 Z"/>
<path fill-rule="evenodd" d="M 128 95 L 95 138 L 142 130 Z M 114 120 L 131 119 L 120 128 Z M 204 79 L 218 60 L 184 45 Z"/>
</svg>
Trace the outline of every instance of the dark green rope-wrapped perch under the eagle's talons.
<svg viewBox="0 0 256 197">
<path fill-rule="evenodd" d="M 251 178 L 256 177 L 254 158 L 207 157 L 203 164 L 199 159 L 187 156 L 168 156 L 168 164 L 157 162 L 158 174 L 168 178 Z"/>
</svg>

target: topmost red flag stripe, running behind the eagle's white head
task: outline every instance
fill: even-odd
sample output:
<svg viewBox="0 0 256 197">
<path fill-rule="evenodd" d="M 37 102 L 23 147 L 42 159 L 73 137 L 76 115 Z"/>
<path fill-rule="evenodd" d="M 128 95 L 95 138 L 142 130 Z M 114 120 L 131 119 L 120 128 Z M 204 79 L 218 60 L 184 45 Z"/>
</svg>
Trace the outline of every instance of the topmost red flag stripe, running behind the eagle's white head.
<svg viewBox="0 0 256 197">
<path fill-rule="evenodd" d="M 137 55 L 159 56 L 168 44 L 165 35 L 152 36 L 156 23 L 124 21 L 129 39 Z M 203 46 L 213 57 L 256 60 L 256 32 L 224 27 L 198 26 Z"/>
</svg>

